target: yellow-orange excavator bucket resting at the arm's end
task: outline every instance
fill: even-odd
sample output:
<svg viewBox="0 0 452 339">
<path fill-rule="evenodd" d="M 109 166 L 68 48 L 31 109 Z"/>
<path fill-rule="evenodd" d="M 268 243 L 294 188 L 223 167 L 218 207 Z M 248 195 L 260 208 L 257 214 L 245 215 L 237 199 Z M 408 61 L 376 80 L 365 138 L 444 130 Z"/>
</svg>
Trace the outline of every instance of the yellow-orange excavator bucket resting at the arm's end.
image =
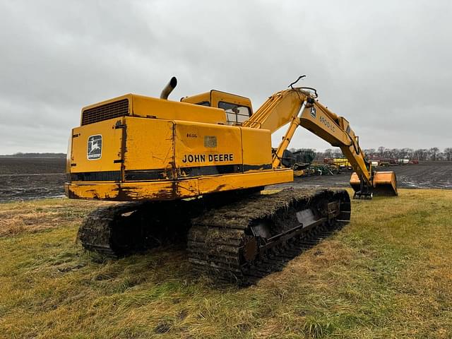
<svg viewBox="0 0 452 339">
<path fill-rule="evenodd" d="M 350 177 L 350 186 L 357 198 L 371 198 L 375 196 L 397 196 L 397 179 L 394 172 L 374 172 L 372 186 L 363 187 L 356 172 Z"/>
</svg>

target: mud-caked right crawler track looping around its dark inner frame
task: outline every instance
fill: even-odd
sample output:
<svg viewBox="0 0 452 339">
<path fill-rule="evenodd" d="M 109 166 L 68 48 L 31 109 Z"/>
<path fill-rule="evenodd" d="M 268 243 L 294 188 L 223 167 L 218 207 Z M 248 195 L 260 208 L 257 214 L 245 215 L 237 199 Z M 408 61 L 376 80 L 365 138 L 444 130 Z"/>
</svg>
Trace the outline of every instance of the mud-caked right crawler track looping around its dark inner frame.
<svg viewBox="0 0 452 339">
<path fill-rule="evenodd" d="M 277 220 L 275 224 L 279 220 L 280 224 L 292 228 L 297 226 L 294 225 L 294 222 L 297 223 L 294 220 L 295 211 L 316 206 L 322 201 L 338 200 L 343 202 L 335 220 L 307 230 L 282 246 L 266 251 L 251 263 L 244 263 L 242 246 L 246 237 L 250 237 L 250 225 L 255 220 Z M 189 261 L 201 274 L 208 273 L 217 280 L 250 285 L 269 273 L 283 269 L 285 263 L 343 227 L 349 220 L 350 198 L 343 190 L 287 190 L 278 194 L 251 196 L 222 208 L 214 208 L 192 220 L 187 246 Z"/>
</svg>

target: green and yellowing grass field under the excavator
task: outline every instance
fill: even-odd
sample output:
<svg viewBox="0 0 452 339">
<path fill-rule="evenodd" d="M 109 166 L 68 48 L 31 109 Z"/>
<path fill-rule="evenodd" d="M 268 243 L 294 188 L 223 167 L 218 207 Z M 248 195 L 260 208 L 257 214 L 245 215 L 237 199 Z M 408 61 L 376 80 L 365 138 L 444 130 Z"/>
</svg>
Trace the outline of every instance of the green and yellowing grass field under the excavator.
<svg viewBox="0 0 452 339">
<path fill-rule="evenodd" d="M 100 204 L 0 204 L 0 338 L 452 338 L 452 191 L 353 201 L 343 230 L 246 288 L 194 275 L 180 245 L 83 252 Z"/>
</svg>

